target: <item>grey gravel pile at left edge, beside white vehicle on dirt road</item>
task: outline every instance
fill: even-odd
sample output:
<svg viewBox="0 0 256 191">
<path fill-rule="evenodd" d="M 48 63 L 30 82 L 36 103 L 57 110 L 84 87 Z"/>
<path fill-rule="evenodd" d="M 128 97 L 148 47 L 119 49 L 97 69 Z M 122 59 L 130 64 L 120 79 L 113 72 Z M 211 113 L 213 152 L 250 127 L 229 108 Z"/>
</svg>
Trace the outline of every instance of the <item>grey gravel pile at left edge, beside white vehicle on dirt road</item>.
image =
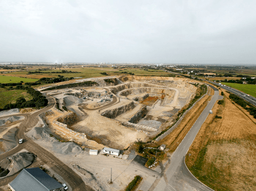
<svg viewBox="0 0 256 191">
<path fill-rule="evenodd" d="M 14 127 L 2 136 L 0 139 L 0 154 L 10 151 L 17 145 L 15 140 L 16 131 L 17 128 Z"/>
</svg>

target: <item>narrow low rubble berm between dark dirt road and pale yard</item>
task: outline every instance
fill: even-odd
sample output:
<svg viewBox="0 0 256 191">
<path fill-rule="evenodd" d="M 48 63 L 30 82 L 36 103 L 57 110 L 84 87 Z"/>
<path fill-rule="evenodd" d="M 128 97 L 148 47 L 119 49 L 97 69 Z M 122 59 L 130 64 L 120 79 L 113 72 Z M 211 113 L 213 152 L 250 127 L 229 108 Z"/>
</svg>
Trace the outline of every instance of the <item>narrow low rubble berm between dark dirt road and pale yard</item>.
<svg viewBox="0 0 256 191">
<path fill-rule="evenodd" d="M 94 177 L 93 173 L 85 170 L 84 168 L 79 167 L 78 165 L 73 165 L 73 168 L 80 172 L 87 182 L 90 184 L 91 187 L 94 188 L 96 191 L 105 191 L 102 186 L 99 185 L 97 179 Z"/>
</svg>

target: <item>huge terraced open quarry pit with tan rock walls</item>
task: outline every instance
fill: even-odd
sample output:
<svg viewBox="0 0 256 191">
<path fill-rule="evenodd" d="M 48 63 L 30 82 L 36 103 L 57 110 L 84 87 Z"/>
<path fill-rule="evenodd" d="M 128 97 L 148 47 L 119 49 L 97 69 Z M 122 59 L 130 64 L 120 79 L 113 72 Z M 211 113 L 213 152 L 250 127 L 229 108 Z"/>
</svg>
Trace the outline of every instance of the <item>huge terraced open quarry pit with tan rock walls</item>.
<svg viewBox="0 0 256 191">
<path fill-rule="evenodd" d="M 93 149 L 123 150 L 148 141 L 172 125 L 197 90 L 193 80 L 178 77 L 121 76 L 95 82 L 47 91 L 62 111 L 45 116 L 56 136 Z"/>
</svg>

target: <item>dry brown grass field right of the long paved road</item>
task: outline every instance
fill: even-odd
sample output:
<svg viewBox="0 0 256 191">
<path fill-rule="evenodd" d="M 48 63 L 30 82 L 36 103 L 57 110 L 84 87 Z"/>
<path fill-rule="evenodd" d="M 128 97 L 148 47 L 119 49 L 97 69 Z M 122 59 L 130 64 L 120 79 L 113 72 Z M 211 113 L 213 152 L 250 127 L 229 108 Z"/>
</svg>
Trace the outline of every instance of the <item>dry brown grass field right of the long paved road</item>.
<svg viewBox="0 0 256 191">
<path fill-rule="evenodd" d="M 256 119 L 224 91 L 186 156 L 190 172 L 215 191 L 256 190 Z M 220 119 L 216 118 L 216 115 Z"/>
</svg>

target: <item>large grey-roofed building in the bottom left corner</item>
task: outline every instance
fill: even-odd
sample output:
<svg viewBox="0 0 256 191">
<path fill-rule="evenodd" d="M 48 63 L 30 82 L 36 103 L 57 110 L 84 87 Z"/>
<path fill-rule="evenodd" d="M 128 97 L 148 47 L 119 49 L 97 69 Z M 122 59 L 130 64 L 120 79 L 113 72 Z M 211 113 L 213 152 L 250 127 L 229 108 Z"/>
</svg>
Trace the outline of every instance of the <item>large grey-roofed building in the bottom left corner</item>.
<svg viewBox="0 0 256 191">
<path fill-rule="evenodd" d="M 9 184 L 12 191 L 63 191 L 64 187 L 40 168 L 24 168 Z"/>
</svg>

